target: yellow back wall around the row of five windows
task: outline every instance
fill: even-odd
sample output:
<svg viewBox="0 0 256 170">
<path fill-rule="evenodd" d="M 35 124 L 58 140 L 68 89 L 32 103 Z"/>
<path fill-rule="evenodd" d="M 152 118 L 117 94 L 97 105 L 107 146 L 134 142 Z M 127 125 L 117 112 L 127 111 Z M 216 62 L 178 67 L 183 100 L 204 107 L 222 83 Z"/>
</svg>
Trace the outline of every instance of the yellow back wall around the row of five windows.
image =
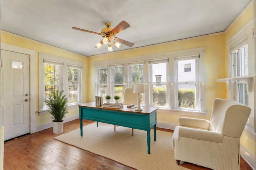
<svg viewBox="0 0 256 170">
<path fill-rule="evenodd" d="M 210 119 L 210 113 L 212 110 L 212 101 L 214 98 L 226 98 L 226 84 L 216 82 L 219 78 L 225 78 L 225 41 L 224 34 L 212 34 L 201 37 L 195 37 L 190 39 L 184 39 L 179 41 L 172 41 L 168 43 L 161 43 L 157 45 L 150 45 L 147 47 L 141 47 L 136 49 L 130 49 L 126 51 L 118 51 L 115 53 L 107 53 L 103 55 L 96 55 L 88 58 L 88 101 L 94 101 L 94 85 L 95 82 L 95 68 L 94 62 L 108 61 L 114 59 L 124 59 L 130 57 L 140 57 L 144 55 L 165 53 L 172 51 L 179 51 L 184 49 L 192 49 L 197 47 L 205 47 L 205 65 L 206 65 L 206 108 L 208 114 L 206 119 Z M 214 70 L 214 71 L 213 71 Z M 171 113 L 172 111 L 170 111 Z M 159 113 L 158 121 L 165 123 L 178 123 L 178 117 L 180 115 Z"/>
</svg>

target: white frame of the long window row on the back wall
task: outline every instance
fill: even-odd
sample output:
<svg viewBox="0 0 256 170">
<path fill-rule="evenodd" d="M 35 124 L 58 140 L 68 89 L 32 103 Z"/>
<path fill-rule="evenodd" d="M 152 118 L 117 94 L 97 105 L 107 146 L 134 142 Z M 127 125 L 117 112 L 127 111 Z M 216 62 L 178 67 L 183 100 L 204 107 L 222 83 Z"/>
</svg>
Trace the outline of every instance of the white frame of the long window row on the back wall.
<svg viewBox="0 0 256 170">
<path fill-rule="evenodd" d="M 200 68 L 200 76 L 198 77 L 198 83 L 200 86 L 200 110 L 199 111 L 194 111 L 194 110 L 181 110 L 181 109 L 175 109 L 174 105 L 174 100 L 175 100 L 175 57 L 182 57 L 182 56 L 190 56 L 190 55 L 200 55 L 200 60 L 199 60 L 199 66 Z M 186 50 L 181 50 L 181 51 L 172 51 L 172 52 L 167 52 L 167 53 L 158 53 L 158 54 L 153 54 L 153 55 L 145 55 L 145 56 L 139 56 L 139 57 L 131 57 L 131 58 L 124 58 L 124 59 L 116 59 L 116 60 L 108 60 L 108 61 L 100 61 L 94 63 L 95 67 L 95 74 L 96 73 L 96 68 L 102 67 L 102 66 L 108 66 L 108 71 L 111 71 L 110 66 L 114 64 L 120 64 L 124 63 L 124 86 L 125 87 L 132 87 L 133 84 L 131 83 L 131 73 L 129 71 L 129 65 L 132 64 L 144 64 L 143 65 L 143 79 L 144 82 L 142 84 L 145 85 L 145 93 L 143 94 L 143 106 L 150 106 L 150 66 L 149 66 L 149 61 L 152 60 L 163 60 L 163 59 L 168 59 L 168 73 L 167 73 L 167 86 L 166 90 L 168 90 L 169 95 L 167 98 L 168 102 L 167 106 L 168 108 L 162 108 L 159 107 L 158 111 L 161 113 L 170 113 L 170 114 L 178 114 L 178 115 L 188 115 L 188 116 L 198 116 L 198 117 L 206 117 L 206 94 L 205 94 L 205 63 L 204 63 L 204 55 L 205 55 L 205 47 L 198 47 L 194 49 L 186 49 Z M 108 76 L 108 89 L 111 90 L 111 84 L 110 84 L 110 76 Z M 95 87 L 97 87 L 97 75 L 95 76 Z M 125 88 L 124 87 L 124 88 Z M 96 89 L 96 88 L 95 88 Z M 111 90 L 112 91 L 112 90 Z M 95 90 L 94 92 L 95 96 L 98 96 L 98 90 Z M 111 93 L 112 95 L 112 93 Z M 198 95 L 197 95 L 198 96 Z"/>
</svg>

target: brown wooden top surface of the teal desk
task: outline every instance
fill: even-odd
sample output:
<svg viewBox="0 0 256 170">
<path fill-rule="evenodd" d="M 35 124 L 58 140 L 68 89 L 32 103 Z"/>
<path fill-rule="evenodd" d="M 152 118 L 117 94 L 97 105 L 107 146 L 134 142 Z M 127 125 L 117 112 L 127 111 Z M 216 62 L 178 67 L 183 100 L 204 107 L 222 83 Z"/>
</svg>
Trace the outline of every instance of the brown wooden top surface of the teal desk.
<svg viewBox="0 0 256 170">
<path fill-rule="evenodd" d="M 95 102 L 90 102 L 90 103 L 84 103 L 84 104 L 79 104 L 79 107 L 90 107 L 90 108 L 97 108 L 97 109 L 105 109 L 105 110 L 115 110 L 115 111 L 124 111 L 124 112 L 132 112 L 132 113 L 142 113 L 142 114 L 150 114 L 158 109 L 158 107 L 143 107 L 140 106 L 143 110 L 142 111 L 136 111 L 134 110 L 135 108 L 127 107 L 124 105 L 124 107 L 121 107 L 119 109 L 115 108 L 106 108 L 102 106 L 95 106 Z"/>
</svg>

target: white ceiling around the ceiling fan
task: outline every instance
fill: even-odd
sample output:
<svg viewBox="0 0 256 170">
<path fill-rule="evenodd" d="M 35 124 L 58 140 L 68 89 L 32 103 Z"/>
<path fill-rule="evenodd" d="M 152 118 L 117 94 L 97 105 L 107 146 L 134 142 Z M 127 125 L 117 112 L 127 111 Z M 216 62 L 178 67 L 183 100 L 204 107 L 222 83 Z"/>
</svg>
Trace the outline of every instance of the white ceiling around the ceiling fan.
<svg viewBox="0 0 256 170">
<path fill-rule="evenodd" d="M 84 56 L 109 53 L 95 49 L 105 22 L 131 27 L 116 37 L 132 48 L 225 31 L 251 0 L 1 0 L 2 30 Z M 112 45 L 113 51 L 120 49 Z"/>
</svg>

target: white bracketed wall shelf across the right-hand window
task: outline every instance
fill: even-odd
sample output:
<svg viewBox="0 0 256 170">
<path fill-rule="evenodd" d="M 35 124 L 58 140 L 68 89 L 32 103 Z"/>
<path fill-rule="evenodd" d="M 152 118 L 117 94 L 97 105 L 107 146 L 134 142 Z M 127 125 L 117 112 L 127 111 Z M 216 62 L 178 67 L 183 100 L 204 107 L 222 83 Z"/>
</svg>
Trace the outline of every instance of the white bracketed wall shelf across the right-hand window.
<svg viewBox="0 0 256 170">
<path fill-rule="evenodd" d="M 253 74 L 253 75 L 250 75 L 250 76 L 221 78 L 221 79 L 218 79 L 217 82 L 226 82 L 227 86 L 228 86 L 228 89 L 230 90 L 230 86 L 232 84 L 232 81 L 245 81 L 248 84 L 248 91 L 252 92 L 254 77 L 256 77 L 256 74 Z"/>
</svg>

